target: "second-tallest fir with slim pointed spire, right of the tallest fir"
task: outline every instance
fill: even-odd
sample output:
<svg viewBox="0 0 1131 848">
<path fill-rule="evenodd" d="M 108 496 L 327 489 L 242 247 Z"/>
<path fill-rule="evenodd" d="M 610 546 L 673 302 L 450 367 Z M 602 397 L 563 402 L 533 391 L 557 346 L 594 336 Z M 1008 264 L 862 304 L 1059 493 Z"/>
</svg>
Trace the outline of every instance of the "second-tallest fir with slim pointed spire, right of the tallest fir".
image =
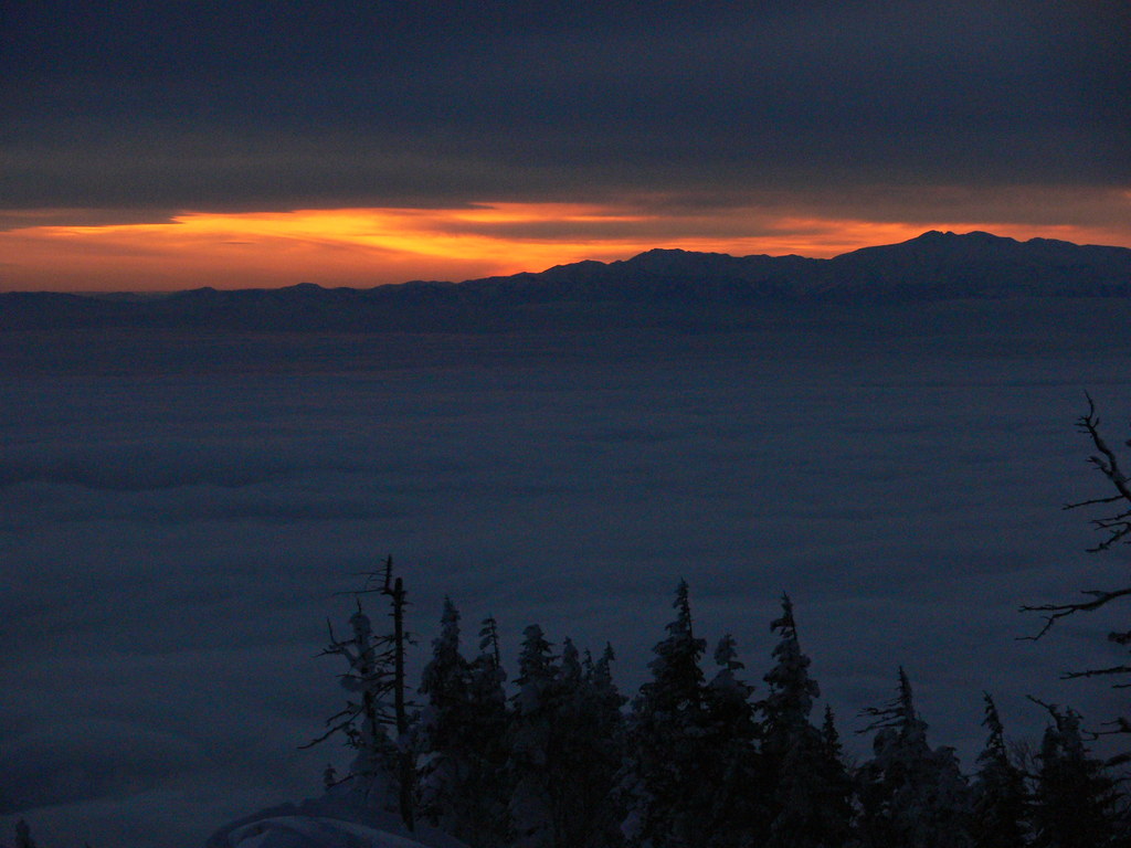
<svg viewBox="0 0 1131 848">
<path fill-rule="evenodd" d="M 849 807 L 846 775 L 829 726 L 824 735 L 810 720 L 820 696 L 809 676 L 810 659 L 801 650 L 793 604 L 782 596 L 782 615 L 770 623 L 779 637 L 772 656 L 777 664 L 765 676 L 769 693 L 759 702 L 762 715 L 762 755 L 771 786 L 768 848 L 831 848 L 848 838 Z M 827 735 L 834 734 L 834 738 Z"/>
</svg>

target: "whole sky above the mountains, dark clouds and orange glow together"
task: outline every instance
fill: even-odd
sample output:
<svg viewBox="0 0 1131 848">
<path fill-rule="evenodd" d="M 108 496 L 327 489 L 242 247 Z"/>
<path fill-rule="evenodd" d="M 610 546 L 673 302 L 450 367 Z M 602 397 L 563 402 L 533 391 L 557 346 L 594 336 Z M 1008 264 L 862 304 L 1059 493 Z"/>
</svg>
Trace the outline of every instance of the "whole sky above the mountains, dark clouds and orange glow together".
<svg viewBox="0 0 1131 848">
<path fill-rule="evenodd" d="M 1121 0 L 16 0 L 0 291 L 1131 246 L 1129 44 Z"/>
</svg>

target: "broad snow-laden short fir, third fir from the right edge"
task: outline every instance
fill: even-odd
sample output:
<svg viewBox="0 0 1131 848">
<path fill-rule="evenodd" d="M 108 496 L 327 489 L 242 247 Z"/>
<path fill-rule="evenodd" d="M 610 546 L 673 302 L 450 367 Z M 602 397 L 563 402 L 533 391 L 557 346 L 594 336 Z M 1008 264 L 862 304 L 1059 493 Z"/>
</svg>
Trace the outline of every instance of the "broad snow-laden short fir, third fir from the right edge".
<svg viewBox="0 0 1131 848">
<path fill-rule="evenodd" d="M 874 756 L 857 772 L 865 848 L 970 848 L 969 787 L 953 749 L 932 750 L 899 669 L 895 700 L 864 711 Z"/>
</svg>

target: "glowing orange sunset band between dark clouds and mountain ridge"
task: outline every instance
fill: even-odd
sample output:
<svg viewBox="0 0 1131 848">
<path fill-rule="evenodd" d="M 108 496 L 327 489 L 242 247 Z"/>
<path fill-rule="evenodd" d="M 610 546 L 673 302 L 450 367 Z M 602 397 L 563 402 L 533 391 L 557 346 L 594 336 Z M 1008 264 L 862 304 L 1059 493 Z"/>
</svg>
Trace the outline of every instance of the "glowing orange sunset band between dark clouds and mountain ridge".
<svg viewBox="0 0 1131 848">
<path fill-rule="evenodd" d="M 33 220 L 33 216 L 25 216 Z M 20 226 L 0 232 L 2 291 L 169 291 L 302 282 L 369 287 L 538 271 L 653 248 L 827 258 L 926 230 L 1117 244 L 1117 230 L 996 222 L 877 222 L 763 210 L 663 215 L 579 204 L 455 209 L 184 213 L 162 223 Z"/>
</svg>

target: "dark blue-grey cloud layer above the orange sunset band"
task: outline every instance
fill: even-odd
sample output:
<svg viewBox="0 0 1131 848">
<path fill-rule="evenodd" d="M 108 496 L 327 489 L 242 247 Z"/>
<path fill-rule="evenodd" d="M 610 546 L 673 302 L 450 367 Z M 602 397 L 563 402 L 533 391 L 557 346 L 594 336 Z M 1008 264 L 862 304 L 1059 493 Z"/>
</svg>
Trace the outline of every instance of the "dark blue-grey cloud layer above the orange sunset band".
<svg viewBox="0 0 1131 848">
<path fill-rule="evenodd" d="M 3 206 L 1125 185 L 1128 35 L 1103 1 L 12 3 Z"/>
</svg>

